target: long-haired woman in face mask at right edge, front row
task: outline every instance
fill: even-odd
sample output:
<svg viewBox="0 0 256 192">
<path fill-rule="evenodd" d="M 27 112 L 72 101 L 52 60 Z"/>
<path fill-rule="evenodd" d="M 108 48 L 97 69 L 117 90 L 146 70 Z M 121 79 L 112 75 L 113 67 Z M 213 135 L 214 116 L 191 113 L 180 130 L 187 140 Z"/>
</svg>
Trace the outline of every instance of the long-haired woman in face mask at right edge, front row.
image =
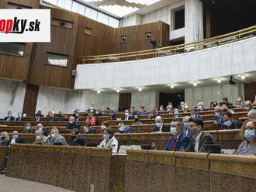
<svg viewBox="0 0 256 192">
<path fill-rule="evenodd" d="M 240 130 L 244 141 L 240 143 L 236 155 L 256 156 L 256 121 L 247 120 Z"/>
</svg>

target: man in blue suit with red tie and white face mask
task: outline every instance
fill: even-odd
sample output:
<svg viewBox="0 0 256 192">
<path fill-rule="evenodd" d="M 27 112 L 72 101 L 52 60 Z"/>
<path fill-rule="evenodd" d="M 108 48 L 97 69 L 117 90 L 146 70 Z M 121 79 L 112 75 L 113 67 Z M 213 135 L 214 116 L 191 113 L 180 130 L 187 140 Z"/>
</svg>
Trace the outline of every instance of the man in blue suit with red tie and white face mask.
<svg viewBox="0 0 256 192">
<path fill-rule="evenodd" d="M 189 136 L 182 132 L 182 122 L 171 122 L 171 136 L 166 143 L 164 150 L 185 151 L 189 146 Z"/>
</svg>

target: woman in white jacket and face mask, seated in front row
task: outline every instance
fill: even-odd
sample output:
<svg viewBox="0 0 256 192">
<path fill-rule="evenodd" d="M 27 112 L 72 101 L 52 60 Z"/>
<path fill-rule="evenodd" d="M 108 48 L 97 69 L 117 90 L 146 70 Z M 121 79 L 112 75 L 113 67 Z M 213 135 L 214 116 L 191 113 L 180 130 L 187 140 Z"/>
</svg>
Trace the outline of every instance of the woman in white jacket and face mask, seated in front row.
<svg viewBox="0 0 256 192">
<path fill-rule="evenodd" d="M 117 153 L 118 140 L 114 136 L 114 133 L 110 127 L 104 129 L 103 141 L 99 144 L 98 147 L 110 148 L 112 149 L 112 153 Z"/>
</svg>

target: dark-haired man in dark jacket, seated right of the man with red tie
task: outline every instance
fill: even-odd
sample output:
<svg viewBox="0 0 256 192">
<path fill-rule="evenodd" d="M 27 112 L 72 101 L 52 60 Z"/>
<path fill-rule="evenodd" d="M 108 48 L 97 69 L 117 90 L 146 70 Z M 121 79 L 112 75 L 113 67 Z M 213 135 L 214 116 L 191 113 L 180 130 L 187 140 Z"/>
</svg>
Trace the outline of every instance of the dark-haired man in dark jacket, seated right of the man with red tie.
<svg viewBox="0 0 256 192">
<path fill-rule="evenodd" d="M 202 119 L 189 118 L 189 135 L 191 135 L 189 146 L 185 151 L 208 153 L 205 145 L 215 144 L 213 136 L 208 132 L 203 132 Z"/>
</svg>

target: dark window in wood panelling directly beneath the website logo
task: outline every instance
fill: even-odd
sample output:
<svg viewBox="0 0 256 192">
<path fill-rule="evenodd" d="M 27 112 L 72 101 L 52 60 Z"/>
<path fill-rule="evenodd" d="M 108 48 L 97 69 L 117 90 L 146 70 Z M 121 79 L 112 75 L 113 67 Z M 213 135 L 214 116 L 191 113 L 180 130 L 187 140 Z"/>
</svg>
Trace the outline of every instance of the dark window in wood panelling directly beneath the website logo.
<svg viewBox="0 0 256 192">
<path fill-rule="evenodd" d="M 25 43 L 0 43 L 0 53 L 22 57 L 25 46 Z"/>
</svg>

